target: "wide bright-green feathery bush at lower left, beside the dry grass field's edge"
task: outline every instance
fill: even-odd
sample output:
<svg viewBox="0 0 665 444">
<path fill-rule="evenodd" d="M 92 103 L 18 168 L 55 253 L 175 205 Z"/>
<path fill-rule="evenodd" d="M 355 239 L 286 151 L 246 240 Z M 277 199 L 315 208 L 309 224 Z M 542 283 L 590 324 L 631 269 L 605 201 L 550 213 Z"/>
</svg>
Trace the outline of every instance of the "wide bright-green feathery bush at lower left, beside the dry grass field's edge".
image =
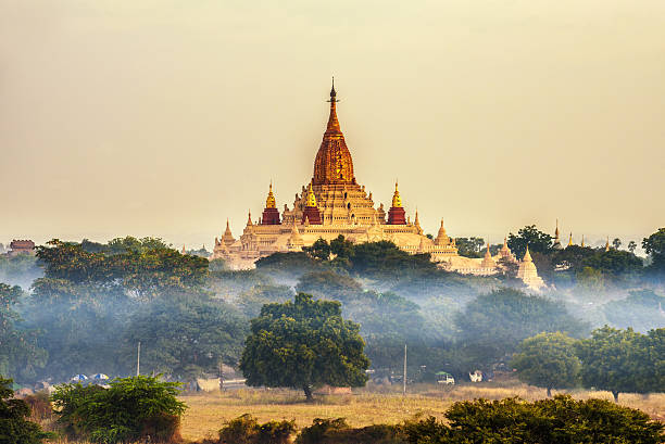
<svg viewBox="0 0 665 444">
<path fill-rule="evenodd" d="M 187 408 L 176 399 L 178 382 L 138 376 L 115 379 L 110 385 L 71 383 L 57 388 L 52 399 L 58 423 L 68 437 L 96 443 L 178 437 L 180 416 Z"/>
</svg>

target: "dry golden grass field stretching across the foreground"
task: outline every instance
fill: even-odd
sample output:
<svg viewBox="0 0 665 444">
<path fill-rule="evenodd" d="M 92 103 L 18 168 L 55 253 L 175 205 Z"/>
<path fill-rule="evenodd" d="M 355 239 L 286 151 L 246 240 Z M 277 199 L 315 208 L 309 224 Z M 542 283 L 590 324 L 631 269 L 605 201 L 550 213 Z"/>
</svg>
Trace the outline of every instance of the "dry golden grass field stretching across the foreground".
<svg viewBox="0 0 665 444">
<path fill-rule="evenodd" d="M 298 427 L 309 426 L 314 418 L 346 418 L 351 426 L 397 423 L 415 415 L 441 418 L 456 401 L 485 397 L 500 399 L 519 396 L 540 399 L 545 391 L 525 384 L 497 386 L 490 383 L 440 388 L 435 384 L 409 386 L 405 397 L 401 388 L 365 388 L 352 395 L 317 396 L 305 403 L 302 392 L 290 390 L 242 389 L 181 396 L 189 408 L 183 419 L 183 437 L 188 441 L 216 436 L 225 421 L 251 414 L 260 422 L 294 419 Z M 556 392 L 554 392 L 556 393 Z M 610 392 L 570 391 L 576 398 L 612 399 Z M 639 408 L 654 419 L 665 421 L 665 394 L 622 394 L 619 404 Z"/>
</svg>

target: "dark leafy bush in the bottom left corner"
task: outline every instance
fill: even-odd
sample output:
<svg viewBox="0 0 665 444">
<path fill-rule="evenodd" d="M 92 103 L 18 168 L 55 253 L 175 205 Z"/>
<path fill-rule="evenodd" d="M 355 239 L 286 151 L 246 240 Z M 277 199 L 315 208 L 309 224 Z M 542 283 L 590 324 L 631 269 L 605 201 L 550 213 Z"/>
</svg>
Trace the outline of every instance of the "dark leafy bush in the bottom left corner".
<svg viewBox="0 0 665 444">
<path fill-rule="evenodd" d="M 26 419 L 30 416 L 30 407 L 23 399 L 14 398 L 12 382 L 0 377 L 0 443 L 41 444 L 51 433 Z"/>
</svg>

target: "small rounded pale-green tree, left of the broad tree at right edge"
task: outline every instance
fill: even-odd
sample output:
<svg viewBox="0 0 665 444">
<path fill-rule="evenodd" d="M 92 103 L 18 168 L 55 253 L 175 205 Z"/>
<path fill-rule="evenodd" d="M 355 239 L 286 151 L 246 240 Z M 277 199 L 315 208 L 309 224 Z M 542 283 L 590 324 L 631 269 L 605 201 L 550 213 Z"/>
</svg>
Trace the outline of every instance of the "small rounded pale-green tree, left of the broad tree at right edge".
<svg viewBox="0 0 665 444">
<path fill-rule="evenodd" d="M 569 389 L 577 382 L 580 364 L 574 345 L 565 333 L 540 333 L 522 342 L 511 366 L 520 381 L 545 388 L 551 397 L 552 389 Z"/>
</svg>

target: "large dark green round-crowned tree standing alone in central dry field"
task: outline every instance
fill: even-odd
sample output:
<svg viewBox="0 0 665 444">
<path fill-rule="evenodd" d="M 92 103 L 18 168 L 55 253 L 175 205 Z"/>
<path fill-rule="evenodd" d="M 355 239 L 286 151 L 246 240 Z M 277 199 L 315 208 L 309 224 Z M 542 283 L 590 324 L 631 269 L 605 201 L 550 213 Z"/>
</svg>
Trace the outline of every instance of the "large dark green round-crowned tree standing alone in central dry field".
<svg viewBox="0 0 665 444">
<path fill-rule="evenodd" d="M 252 319 L 240 369 L 249 385 L 300 388 L 308 399 L 323 384 L 362 386 L 369 360 L 359 331 L 342 319 L 339 302 L 299 293 Z"/>
</svg>

